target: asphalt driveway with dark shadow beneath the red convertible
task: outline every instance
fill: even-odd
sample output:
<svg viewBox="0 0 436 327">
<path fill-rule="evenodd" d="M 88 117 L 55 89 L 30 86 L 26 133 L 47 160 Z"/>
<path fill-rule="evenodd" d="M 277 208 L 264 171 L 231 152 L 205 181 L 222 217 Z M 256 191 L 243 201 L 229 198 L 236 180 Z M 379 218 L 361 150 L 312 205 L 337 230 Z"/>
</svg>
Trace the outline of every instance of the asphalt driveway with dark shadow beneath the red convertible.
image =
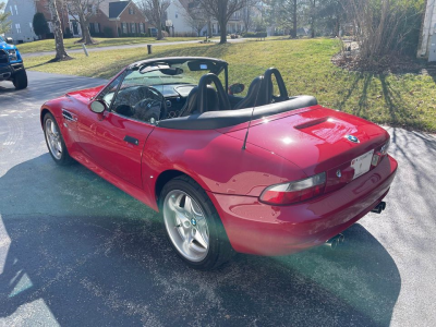
<svg viewBox="0 0 436 327">
<path fill-rule="evenodd" d="M 400 169 L 347 246 L 186 268 L 157 214 L 47 153 L 40 105 L 101 81 L 0 83 L 0 326 L 436 326 L 436 138 L 389 129 Z"/>
</svg>

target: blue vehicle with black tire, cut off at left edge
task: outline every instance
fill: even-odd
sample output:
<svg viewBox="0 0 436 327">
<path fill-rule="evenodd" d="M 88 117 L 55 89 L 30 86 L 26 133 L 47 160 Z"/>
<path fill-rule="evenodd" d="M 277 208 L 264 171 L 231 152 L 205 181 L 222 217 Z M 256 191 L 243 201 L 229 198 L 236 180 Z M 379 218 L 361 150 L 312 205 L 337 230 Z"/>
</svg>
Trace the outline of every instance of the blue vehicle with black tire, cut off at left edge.
<svg viewBox="0 0 436 327">
<path fill-rule="evenodd" d="M 19 49 L 12 38 L 4 40 L 0 36 L 0 82 L 11 81 L 16 89 L 27 87 L 27 74 Z"/>
</svg>

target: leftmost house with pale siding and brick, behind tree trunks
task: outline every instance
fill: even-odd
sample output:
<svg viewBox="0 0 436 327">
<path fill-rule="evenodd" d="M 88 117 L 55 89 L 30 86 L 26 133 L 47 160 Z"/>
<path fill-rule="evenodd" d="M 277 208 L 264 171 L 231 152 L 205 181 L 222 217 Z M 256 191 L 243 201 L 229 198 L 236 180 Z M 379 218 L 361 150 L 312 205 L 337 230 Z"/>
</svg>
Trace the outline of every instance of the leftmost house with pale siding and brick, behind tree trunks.
<svg viewBox="0 0 436 327">
<path fill-rule="evenodd" d="M 89 10 L 96 9 L 89 8 Z M 48 0 L 9 0 L 4 11 L 10 13 L 11 22 L 11 29 L 5 33 L 5 36 L 12 37 L 16 44 L 39 39 L 33 29 L 33 19 L 37 12 L 45 15 L 50 33 L 53 32 Z M 58 11 L 62 31 L 65 33 L 69 28 L 73 36 L 82 36 L 81 26 L 76 17 L 69 12 L 66 2 L 58 7 Z M 145 34 L 149 26 L 133 1 L 113 0 L 105 0 L 100 3 L 89 23 L 92 35 L 106 37 Z"/>
</svg>

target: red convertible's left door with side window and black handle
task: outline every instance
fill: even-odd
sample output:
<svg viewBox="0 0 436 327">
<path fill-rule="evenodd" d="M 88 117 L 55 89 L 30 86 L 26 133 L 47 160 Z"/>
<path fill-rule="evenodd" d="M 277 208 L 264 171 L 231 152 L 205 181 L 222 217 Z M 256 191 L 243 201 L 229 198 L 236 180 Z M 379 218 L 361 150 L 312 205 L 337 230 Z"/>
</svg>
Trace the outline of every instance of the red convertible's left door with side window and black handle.
<svg viewBox="0 0 436 327">
<path fill-rule="evenodd" d="M 137 187 L 143 187 L 142 154 L 145 142 L 155 128 L 152 122 L 156 119 L 147 120 L 144 116 L 138 118 L 129 110 L 141 100 L 146 102 L 144 97 L 144 89 L 132 87 L 129 73 L 124 73 L 99 96 L 109 109 L 101 114 L 89 111 L 80 124 L 81 146 L 87 157 L 98 167 Z M 152 107 L 146 106 L 152 111 L 157 110 L 156 106 Z"/>
</svg>

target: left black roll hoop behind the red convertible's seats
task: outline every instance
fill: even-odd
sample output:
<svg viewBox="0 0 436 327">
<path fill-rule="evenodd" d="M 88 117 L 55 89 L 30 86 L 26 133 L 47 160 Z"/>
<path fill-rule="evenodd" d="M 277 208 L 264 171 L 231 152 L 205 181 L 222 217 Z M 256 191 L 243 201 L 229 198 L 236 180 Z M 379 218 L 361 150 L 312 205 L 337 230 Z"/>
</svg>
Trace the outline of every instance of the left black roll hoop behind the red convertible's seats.
<svg viewBox="0 0 436 327">
<path fill-rule="evenodd" d="M 210 96 L 210 87 L 207 87 L 210 83 L 214 83 L 215 87 L 217 88 L 218 109 L 230 110 L 231 107 L 229 97 L 227 96 L 227 93 L 222 87 L 221 81 L 219 81 L 217 75 L 208 73 L 206 75 L 203 75 L 198 81 L 198 97 L 197 97 L 198 113 L 210 111 L 209 110 L 210 108 L 208 108 L 209 106 L 208 96 Z"/>
</svg>

